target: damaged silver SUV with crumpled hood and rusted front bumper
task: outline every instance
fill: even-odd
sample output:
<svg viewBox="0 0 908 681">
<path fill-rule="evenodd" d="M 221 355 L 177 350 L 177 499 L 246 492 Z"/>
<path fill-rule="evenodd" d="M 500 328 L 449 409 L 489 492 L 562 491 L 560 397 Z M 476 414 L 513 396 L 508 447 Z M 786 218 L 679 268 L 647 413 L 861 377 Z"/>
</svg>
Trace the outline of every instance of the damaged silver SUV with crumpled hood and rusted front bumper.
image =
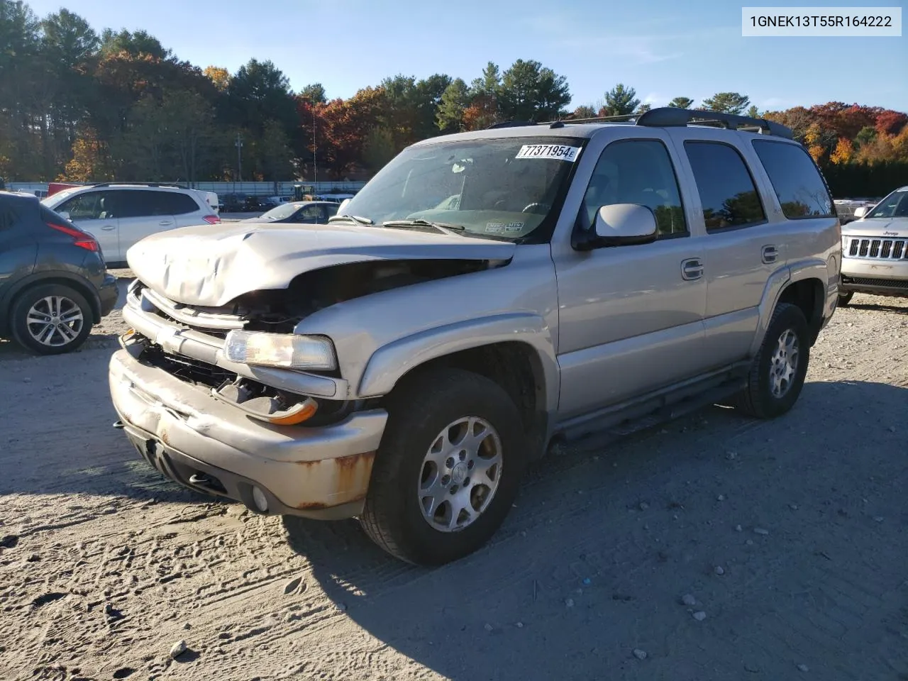
<svg viewBox="0 0 908 681">
<path fill-rule="evenodd" d="M 841 232 L 790 137 L 683 109 L 499 126 L 414 144 L 330 226 L 149 237 L 115 425 L 192 489 L 467 555 L 555 440 L 792 408 Z"/>
</svg>

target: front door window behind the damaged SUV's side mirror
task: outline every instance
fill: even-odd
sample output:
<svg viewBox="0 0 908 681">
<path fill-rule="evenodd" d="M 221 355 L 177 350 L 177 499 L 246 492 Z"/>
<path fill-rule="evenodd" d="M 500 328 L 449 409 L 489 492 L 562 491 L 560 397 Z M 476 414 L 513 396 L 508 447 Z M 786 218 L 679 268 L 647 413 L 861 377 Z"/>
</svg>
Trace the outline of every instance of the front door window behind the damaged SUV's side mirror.
<svg viewBox="0 0 908 681">
<path fill-rule="evenodd" d="M 591 229 L 596 213 L 612 203 L 640 203 L 656 214 L 660 237 L 687 233 L 681 192 L 666 145 L 658 140 L 610 143 L 583 197 L 581 220 Z"/>
</svg>

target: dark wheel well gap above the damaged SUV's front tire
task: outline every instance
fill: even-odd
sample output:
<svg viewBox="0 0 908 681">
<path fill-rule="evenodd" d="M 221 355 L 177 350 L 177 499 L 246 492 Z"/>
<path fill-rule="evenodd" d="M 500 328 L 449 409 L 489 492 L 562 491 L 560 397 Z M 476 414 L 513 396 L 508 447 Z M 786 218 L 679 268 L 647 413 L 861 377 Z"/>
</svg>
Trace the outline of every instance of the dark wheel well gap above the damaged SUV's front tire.
<svg viewBox="0 0 908 681">
<path fill-rule="evenodd" d="M 410 370 L 407 375 L 438 367 L 472 371 L 498 383 L 517 405 L 531 457 L 537 458 L 544 453 L 548 430 L 546 380 L 536 350 L 530 345 L 507 341 L 460 350 L 429 360 Z"/>
</svg>

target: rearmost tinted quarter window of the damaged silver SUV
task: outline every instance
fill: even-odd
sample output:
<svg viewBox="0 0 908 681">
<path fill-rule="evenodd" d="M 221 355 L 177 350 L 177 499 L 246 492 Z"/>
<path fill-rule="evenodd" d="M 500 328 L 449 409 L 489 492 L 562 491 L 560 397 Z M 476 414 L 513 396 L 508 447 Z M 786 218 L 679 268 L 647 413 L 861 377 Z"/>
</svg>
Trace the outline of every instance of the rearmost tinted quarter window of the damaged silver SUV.
<svg viewBox="0 0 908 681">
<path fill-rule="evenodd" d="M 786 218 L 834 217 L 832 197 L 804 147 L 754 140 L 754 150 L 769 175 Z"/>
</svg>

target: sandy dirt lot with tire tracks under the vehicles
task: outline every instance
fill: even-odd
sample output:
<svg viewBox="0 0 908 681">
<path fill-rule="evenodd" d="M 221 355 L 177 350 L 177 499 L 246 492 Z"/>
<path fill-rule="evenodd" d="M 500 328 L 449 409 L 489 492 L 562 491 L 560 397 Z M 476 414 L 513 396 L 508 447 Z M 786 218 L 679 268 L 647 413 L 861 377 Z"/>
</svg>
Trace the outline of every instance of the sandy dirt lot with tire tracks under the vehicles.
<svg viewBox="0 0 908 681">
<path fill-rule="evenodd" d="M 163 481 L 111 428 L 120 331 L 0 345 L 4 681 L 908 679 L 908 301 L 838 311 L 783 419 L 547 459 L 434 571 Z"/>
</svg>

